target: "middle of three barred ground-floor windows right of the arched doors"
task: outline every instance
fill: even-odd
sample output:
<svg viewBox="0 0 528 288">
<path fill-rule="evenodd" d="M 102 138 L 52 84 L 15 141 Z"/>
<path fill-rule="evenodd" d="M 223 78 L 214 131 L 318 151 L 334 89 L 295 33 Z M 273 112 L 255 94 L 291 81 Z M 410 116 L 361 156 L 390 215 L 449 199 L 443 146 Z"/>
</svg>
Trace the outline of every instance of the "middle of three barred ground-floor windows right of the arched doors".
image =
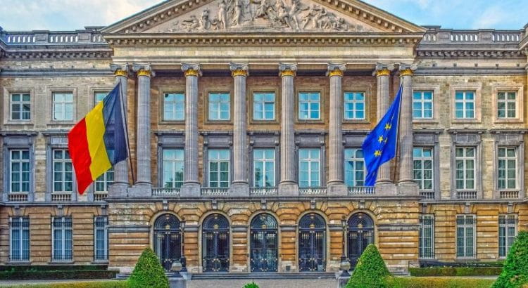
<svg viewBox="0 0 528 288">
<path fill-rule="evenodd" d="M 475 216 L 463 214 L 456 216 L 456 256 L 457 258 L 475 258 Z"/>
</svg>

